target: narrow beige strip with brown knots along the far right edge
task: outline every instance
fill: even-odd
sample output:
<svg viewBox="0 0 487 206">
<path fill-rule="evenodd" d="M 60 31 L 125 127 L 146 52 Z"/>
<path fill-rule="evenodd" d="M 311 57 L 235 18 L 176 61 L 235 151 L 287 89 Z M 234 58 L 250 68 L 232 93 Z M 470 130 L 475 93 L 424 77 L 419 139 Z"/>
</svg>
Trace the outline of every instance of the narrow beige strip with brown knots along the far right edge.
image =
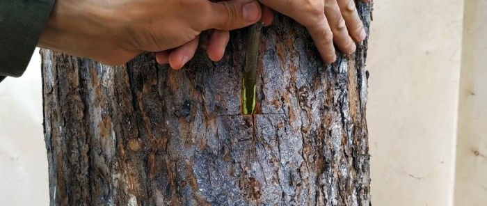
<svg viewBox="0 0 487 206">
<path fill-rule="evenodd" d="M 455 205 L 487 205 L 487 1 L 465 1 Z"/>
</svg>

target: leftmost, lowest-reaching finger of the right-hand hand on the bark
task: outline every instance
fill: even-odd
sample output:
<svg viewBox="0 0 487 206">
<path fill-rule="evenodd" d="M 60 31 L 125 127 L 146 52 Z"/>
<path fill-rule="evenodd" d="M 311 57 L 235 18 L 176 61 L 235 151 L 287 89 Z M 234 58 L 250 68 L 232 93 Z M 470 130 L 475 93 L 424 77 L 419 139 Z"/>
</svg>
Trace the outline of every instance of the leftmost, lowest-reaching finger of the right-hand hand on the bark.
<svg viewBox="0 0 487 206">
<path fill-rule="evenodd" d="M 313 38 L 315 45 L 326 63 L 333 63 L 336 61 L 335 47 L 333 47 L 333 33 L 331 32 L 326 17 L 323 15 L 322 20 L 317 24 L 308 26 L 311 38 Z"/>
</svg>

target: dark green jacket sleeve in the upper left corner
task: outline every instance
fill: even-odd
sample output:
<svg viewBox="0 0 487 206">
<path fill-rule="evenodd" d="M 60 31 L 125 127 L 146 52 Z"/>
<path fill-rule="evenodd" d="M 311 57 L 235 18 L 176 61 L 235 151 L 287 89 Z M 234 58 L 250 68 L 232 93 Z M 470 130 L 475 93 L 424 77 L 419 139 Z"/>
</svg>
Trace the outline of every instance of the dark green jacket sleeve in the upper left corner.
<svg viewBox="0 0 487 206">
<path fill-rule="evenodd" d="M 54 1 L 0 1 L 0 76 L 19 77 L 24 73 Z"/>
</svg>

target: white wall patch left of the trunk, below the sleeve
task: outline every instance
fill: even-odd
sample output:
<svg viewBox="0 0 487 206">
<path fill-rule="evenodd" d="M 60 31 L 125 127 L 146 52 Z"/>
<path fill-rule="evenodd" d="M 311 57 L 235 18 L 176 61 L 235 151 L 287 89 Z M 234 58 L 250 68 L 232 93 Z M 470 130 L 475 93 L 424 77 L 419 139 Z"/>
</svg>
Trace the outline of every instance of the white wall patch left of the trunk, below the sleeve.
<svg viewBox="0 0 487 206">
<path fill-rule="evenodd" d="M 48 205 L 40 55 L 19 79 L 0 84 L 0 205 Z"/>
</svg>

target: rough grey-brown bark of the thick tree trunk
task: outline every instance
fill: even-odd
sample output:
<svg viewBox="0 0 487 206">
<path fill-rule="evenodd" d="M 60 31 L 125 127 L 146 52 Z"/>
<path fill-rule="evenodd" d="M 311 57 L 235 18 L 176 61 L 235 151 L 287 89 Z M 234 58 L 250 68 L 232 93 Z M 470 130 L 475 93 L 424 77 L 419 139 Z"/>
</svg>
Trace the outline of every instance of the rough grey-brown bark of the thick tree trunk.
<svg viewBox="0 0 487 206">
<path fill-rule="evenodd" d="M 367 40 L 326 65 L 292 20 L 262 33 L 254 115 L 246 30 L 223 61 L 200 51 L 178 71 L 42 50 L 51 205 L 368 206 Z"/>
</svg>

